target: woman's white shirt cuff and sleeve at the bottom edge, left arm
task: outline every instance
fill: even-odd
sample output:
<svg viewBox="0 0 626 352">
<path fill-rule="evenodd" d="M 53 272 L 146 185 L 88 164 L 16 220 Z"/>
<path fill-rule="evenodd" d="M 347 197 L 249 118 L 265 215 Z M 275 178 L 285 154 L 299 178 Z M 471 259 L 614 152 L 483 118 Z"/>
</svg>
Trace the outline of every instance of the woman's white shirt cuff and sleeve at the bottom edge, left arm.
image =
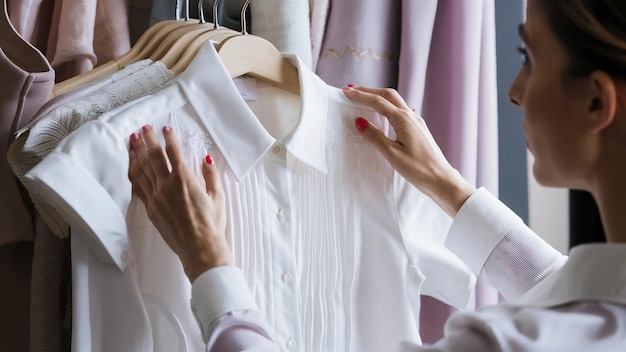
<svg viewBox="0 0 626 352">
<path fill-rule="evenodd" d="M 206 271 L 194 281 L 191 296 L 207 351 L 279 351 L 239 268 Z"/>
</svg>

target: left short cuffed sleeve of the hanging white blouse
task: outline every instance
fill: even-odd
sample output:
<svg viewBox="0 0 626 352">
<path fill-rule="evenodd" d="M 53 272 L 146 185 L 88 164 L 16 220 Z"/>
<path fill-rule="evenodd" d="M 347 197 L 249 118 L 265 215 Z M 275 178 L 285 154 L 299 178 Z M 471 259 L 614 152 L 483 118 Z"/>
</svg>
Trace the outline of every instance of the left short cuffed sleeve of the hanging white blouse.
<svg viewBox="0 0 626 352">
<path fill-rule="evenodd" d="M 125 140 L 95 120 L 65 137 L 25 175 L 28 188 L 50 204 L 46 208 L 81 228 L 98 257 L 121 271 L 133 261 L 125 218 L 132 195 L 128 164 Z"/>
</svg>

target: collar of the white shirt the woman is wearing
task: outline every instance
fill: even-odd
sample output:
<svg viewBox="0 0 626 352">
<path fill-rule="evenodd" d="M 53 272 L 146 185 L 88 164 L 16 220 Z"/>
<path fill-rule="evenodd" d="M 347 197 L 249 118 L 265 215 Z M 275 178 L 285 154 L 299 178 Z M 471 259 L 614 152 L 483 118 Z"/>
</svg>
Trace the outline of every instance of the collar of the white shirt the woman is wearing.
<svg viewBox="0 0 626 352">
<path fill-rule="evenodd" d="M 574 247 L 561 269 L 528 291 L 518 303 L 555 306 L 581 300 L 626 304 L 626 244 Z"/>
</svg>

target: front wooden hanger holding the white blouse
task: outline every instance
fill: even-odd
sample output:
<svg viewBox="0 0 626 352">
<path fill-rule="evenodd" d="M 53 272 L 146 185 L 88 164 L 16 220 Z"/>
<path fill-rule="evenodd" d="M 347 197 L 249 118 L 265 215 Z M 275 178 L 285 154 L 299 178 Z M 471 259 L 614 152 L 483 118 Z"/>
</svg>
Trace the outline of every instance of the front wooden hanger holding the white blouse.
<svg viewBox="0 0 626 352">
<path fill-rule="evenodd" d="M 249 75 L 283 90 L 300 95 L 300 76 L 276 47 L 264 38 L 246 31 L 246 0 L 241 10 L 241 34 L 222 40 L 217 52 L 231 78 Z"/>
</svg>

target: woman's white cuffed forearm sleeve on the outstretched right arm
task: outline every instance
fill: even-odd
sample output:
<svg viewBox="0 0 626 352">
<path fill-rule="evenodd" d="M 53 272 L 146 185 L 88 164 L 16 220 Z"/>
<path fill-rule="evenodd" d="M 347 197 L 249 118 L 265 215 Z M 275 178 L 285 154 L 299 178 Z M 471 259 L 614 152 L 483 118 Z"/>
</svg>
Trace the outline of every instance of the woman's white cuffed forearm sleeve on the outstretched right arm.
<svg viewBox="0 0 626 352">
<path fill-rule="evenodd" d="M 485 188 L 463 204 L 450 226 L 446 245 L 475 274 L 483 273 L 509 301 L 567 260 Z"/>
</svg>

